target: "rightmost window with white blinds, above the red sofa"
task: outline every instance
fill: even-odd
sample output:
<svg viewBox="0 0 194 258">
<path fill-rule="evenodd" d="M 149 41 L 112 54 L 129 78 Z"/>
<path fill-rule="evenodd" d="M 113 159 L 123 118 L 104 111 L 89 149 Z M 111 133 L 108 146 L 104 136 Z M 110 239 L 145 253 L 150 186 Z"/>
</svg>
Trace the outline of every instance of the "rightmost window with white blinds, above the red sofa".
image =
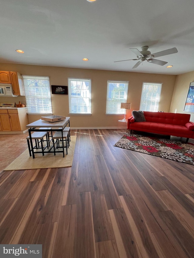
<svg viewBox="0 0 194 258">
<path fill-rule="evenodd" d="M 143 83 L 140 110 L 158 111 L 162 83 Z"/>
</svg>

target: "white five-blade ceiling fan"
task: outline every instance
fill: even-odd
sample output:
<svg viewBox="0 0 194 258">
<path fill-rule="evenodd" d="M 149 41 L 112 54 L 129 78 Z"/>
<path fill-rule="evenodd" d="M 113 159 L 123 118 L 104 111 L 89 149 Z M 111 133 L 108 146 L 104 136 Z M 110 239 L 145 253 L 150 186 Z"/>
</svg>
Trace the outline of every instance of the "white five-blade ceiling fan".
<svg viewBox="0 0 194 258">
<path fill-rule="evenodd" d="M 158 64 L 158 65 L 165 65 L 168 62 L 161 61 L 158 59 L 154 59 L 155 57 L 162 57 L 170 54 L 177 53 L 178 50 L 176 47 L 160 51 L 154 54 L 151 54 L 150 51 L 148 51 L 148 46 L 141 47 L 141 51 L 139 51 L 137 48 L 129 48 L 134 54 L 136 54 L 137 59 L 127 59 L 127 60 L 120 60 L 120 61 L 115 61 L 115 62 L 122 62 L 122 61 L 129 61 L 129 60 L 139 60 L 132 69 L 137 68 L 143 61 L 147 61 L 149 63 L 153 64 Z M 114 63 L 115 63 L 114 62 Z"/>
</svg>

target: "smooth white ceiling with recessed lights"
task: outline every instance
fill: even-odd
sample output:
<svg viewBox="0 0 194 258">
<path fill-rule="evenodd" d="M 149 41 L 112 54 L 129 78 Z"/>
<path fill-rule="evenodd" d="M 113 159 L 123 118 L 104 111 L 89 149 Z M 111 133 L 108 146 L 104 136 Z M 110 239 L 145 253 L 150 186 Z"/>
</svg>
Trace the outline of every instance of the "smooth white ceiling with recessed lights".
<svg viewBox="0 0 194 258">
<path fill-rule="evenodd" d="M 0 62 L 186 73 L 194 70 L 193 11 L 193 0 L 1 0 Z M 178 53 L 157 57 L 164 66 L 114 63 L 136 58 L 129 48 L 146 45 L 151 53 L 172 47 Z"/>
</svg>

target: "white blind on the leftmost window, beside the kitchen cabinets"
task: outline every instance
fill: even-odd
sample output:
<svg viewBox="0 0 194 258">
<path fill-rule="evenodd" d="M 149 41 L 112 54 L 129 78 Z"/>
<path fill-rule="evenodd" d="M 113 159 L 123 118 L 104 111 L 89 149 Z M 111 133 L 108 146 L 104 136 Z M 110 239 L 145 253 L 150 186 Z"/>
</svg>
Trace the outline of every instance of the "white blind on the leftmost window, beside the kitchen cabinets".
<svg viewBox="0 0 194 258">
<path fill-rule="evenodd" d="M 52 114 L 49 77 L 22 75 L 29 114 Z"/>
</svg>

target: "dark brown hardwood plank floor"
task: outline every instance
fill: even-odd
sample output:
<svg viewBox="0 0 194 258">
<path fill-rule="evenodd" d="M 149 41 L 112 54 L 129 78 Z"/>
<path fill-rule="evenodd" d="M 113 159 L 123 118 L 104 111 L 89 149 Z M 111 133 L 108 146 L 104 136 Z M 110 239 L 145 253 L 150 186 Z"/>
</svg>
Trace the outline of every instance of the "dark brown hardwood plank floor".
<svg viewBox="0 0 194 258">
<path fill-rule="evenodd" d="M 2 171 L 0 243 L 42 244 L 44 258 L 193 258 L 194 166 L 114 147 L 116 131 L 71 129 L 72 167 Z"/>
</svg>

